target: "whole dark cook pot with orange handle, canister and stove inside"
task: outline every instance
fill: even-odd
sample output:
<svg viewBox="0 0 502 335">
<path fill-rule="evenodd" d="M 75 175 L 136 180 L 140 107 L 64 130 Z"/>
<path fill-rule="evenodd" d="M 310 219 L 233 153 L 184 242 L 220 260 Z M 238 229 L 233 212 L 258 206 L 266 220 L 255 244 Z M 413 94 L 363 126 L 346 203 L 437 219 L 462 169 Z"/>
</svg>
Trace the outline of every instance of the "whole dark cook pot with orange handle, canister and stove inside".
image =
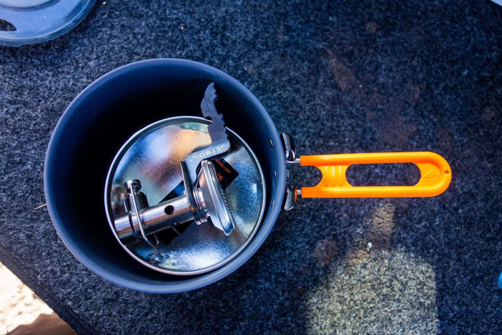
<svg viewBox="0 0 502 335">
<path fill-rule="evenodd" d="M 216 125 L 216 114 L 202 118 L 207 117 L 202 104 L 209 91 L 217 95 L 214 106 L 231 148 L 212 162 L 199 157 L 213 140 L 208 128 Z M 195 162 L 185 173 L 184 163 L 179 164 L 190 165 L 191 155 Z M 302 188 L 286 185 L 287 162 L 318 167 L 321 182 Z M 351 186 L 345 179 L 347 167 L 366 163 L 415 163 L 422 176 L 414 186 Z M 164 171 L 165 164 L 171 165 Z M 217 168 L 237 173 L 222 181 Z M 433 153 L 298 158 L 291 136 L 278 133 L 246 87 L 211 66 L 182 59 L 132 63 L 91 83 L 59 120 L 44 169 L 49 213 L 73 255 L 113 283 L 152 293 L 193 290 L 236 270 L 265 241 L 279 212 L 293 208 L 299 195 L 433 196 L 450 180 L 450 167 Z M 199 195 L 202 209 L 196 211 L 193 197 Z M 210 197 L 225 206 L 208 205 Z M 253 214 L 246 218 L 239 214 L 242 208 Z M 159 241 L 156 234 L 146 236 L 141 220 L 146 210 L 157 210 L 154 214 L 165 220 L 178 212 L 177 220 L 183 217 L 189 225 L 180 234 L 180 222 L 169 221 L 179 237 Z M 190 224 L 192 218 L 197 225 Z M 122 228 L 130 233 L 122 234 Z M 214 259 L 202 264 L 204 257 Z"/>
</svg>

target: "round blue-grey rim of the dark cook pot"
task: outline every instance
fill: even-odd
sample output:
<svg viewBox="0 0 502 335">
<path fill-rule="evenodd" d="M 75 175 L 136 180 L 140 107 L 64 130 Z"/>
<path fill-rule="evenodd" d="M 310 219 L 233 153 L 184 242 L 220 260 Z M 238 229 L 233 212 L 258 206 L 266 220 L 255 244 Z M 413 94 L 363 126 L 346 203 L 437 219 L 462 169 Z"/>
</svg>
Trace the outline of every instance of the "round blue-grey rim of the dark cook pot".
<svg viewBox="0 0 502 335">
<path fill-rule="evenodd" d="M 56 157 L 56 147 L 61 140 L 61 133 L 63 132 L 64 127 L 66 126 L 66 124 L 71 122 L 72 117 L 74 116 L 76 111 L 78 111 L 77 107 L 83 100 L 87 98 L 88 95 L 90 95 L 95 90 L 99 90 L 100 86 L 110 79 L 113 79 L 117 76 L 127 75 L 130 72 L 158 65 L 172 67 L 190 67 L 195 70 L 211 73 L 217 78 L 218 81 L 229 83 L 238 91 L 239 94 L 248 99 L 255 106 L 256 110 L 260 112 L 260 116 L 263 118 L 263 121 L 267 124 L 269 129 L 273 133 L 275 133 L 275 136 L 271 136 L 272 138 L 270 138 L 269 140 L 273 147 L 272 155 L 276 156 L 278 162 L 278 177 L 273 180 L 275 187 L 267 185 L 267 188 L 270 187 L 270 189 L 274 189 L 274 193 L 272 193 L 270 201 L 267 202 L 266 214 L 262 224 L 260 225 L 259 231 L 255 235 L 254 239 L 249 243 L 249 245 L 244 250 L 242 250 L 242 252 L 240 252 L 240 254 L 237 255 L 237 257 L 235 257 L 231 262 L 212 272 L 203 274 L 195 278 L 179 281 L 146 280 L 145 278 L 143 282 L 139 282 L 137 280 L 132 280 L 131 278 L 119 277 L 114 272 L 101 266 L 95 260 L 90 258 L 86 254 L 86 252 L 75 242 L 71 232 L 66 229 L 63 219 L 61 218 L 60 213 L 56 207 L 56 204 L 53 202 L 55 180 L 53 180 L 54 178 L 51 176 L 49 171 L 52 169 L 52 166 L 54 164 L 57 164 L 58 159 Z M 54 227 L 56 228 L 58 235 L 60 236 L 61 240 L 68 248 L 68 250 L 83 265 L 85 265 L 88 269 L 90 269 L 100 277 L 126 288 L 149 293 L 178 293 L 194 290 L 212 284 L 235 271 L 258 251 L 261 245 L 265 242 L 265 239 L 270 234 L 272 227 L 274 226 L 275 221 L 279 216 L 281 208 L 280 204 L 283 201 L 284 189 L 286 185 L 286 162 L 284 159 L 284 153 L 278 148 L 282 148 L 282 143 L 279 138 L 279 132 L 277 131 L 277 128 L 267 110 L 247 87 L 245 87 L 235 78 L 231 77 L 229 74 L 203 63 L 178 58 L 158 58 L 130 63 L 102 75 L 86 88 L 84 88 L 73 99 L 73 101 L 69 104 L 69 106 L 66 108 L 63 115 L 59 119 L 49 141 L 44 164 L 44 192 L 47 202 L 47 208 L 49 210 L 49 214 Z M 114 153 L 112 155 L 114 155 Z M 276 203 L 275 206 L 274 203 Z"/>
</svg>

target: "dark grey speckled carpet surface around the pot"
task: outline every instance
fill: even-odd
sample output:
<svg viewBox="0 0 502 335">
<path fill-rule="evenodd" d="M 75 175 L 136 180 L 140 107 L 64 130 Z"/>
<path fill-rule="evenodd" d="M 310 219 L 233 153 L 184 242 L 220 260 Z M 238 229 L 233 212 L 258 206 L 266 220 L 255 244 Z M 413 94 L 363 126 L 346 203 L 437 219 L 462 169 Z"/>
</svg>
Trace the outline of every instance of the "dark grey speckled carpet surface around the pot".
<svg viewBox="0 0 502 335">
<path fill-rule="evenodd" d="M 248 262 L 195 291 L 109 283 L 34 210 L 45 152 L 93 80 L 163 57 L 235 77 L 299 154 L 434 151 L 451 185 L 299 199 Z M 0 261 L 79 333 L 500 333 L 501 117 L 502 7 L 488 0 L 98 1 L 60 38 L 0 47 Z M 295 166 L 288 182 L 319 176 Z"/>
</svg>

